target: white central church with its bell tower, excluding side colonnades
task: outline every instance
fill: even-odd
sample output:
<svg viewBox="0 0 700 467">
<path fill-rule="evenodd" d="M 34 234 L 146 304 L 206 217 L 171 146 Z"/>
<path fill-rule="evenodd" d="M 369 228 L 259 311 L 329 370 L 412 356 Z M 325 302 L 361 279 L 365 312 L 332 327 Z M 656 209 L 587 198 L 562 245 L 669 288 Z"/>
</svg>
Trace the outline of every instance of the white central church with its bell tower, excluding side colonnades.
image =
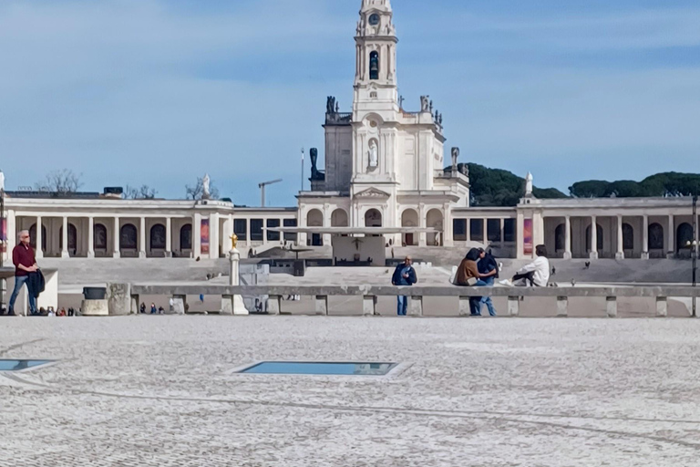
<svg viewBox="0 0 700 467">
<path fill-rule="evenodd" d="M 445 227 L 453 208 L 468 207 L 468 175 L 457 170 L 458 149 L 445 148 L 433 102 L 423 96 L 417 111 L 404 109 L 397 43 L 390 1 L 363 0 L 352 111 L 341 113 L 328 98 L 325 171 L 315 168 L 312 153 L 312 190 L 298 196 L 300 226 L 434 228 L 440 233 L 396 234 L 392 243 L 451 246 Z M 454 171 L 444 169 L 446 152 Z M 320 235 L 311 239 L 321 242 Z"/>
</svg>

